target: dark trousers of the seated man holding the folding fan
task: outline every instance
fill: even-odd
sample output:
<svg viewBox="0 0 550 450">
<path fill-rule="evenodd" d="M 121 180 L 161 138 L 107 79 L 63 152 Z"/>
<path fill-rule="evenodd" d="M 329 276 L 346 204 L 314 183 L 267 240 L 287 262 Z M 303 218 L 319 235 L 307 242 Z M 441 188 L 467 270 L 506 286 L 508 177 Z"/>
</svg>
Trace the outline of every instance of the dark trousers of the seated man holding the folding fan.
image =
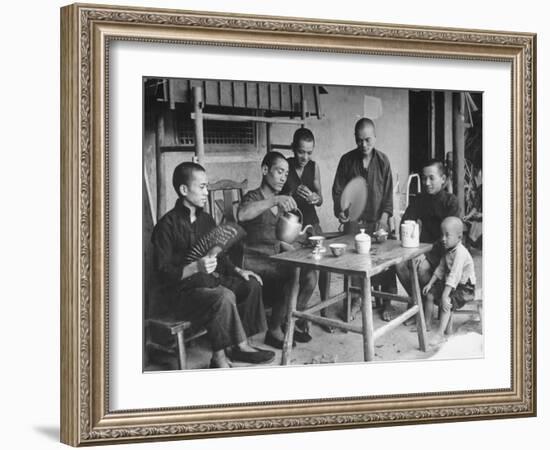
<svg viewBox="0 0 550 450">
<path fill-rule="evenodd" d="M 237 345 L 266 330 L 262 288 L 255 279 L 220 276 L 215 287 L 197 287 L 179 293 L 172 313 L 206 328 L 212 350 Z"/>
</svg>

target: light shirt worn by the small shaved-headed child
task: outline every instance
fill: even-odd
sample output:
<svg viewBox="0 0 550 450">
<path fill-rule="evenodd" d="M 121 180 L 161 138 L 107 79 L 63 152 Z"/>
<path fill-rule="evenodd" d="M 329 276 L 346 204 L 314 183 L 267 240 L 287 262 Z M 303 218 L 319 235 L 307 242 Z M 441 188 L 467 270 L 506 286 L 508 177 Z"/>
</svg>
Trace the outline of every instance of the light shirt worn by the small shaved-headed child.
<svg viewBox="0 0 550 450">
<path fill-rule="evenodd" d="M 434 275 L 440 280 L 445 280 L 445 284 L 453 289 L 468 281 L 473 285 L 476 284 L 474 260 L 460 242 L 455 248 L 445 252 Z"/>
</svg>

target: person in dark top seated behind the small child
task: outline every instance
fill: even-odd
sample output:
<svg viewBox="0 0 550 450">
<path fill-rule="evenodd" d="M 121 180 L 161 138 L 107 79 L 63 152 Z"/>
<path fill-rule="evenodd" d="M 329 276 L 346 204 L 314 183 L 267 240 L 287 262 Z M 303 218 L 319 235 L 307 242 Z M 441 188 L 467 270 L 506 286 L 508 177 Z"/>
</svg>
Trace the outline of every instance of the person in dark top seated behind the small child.
<svg viewBox="0 0 550 450">
<path fill-rule="evenodd" d="M 420 227 L 420 242 L 434 244 L 433 249 L 426 253 L 420 261 L 417 271 L 420 286 L 425 286 L 430 280 L 435 268 L 444 254 L 441 245 L 441 222 L 449 216 L 460 217 L 458 200 L 445 191 L 447 175 L 441 161 L 430 160 L 422 169 L 422 185 L 424 191 L 408 206 L 401 221 L 415 220 Z M 403 287 L 411 295 L 411 279 L 407 263 L 397 265 L 397 276 Z M 414 318 L 407 324 L 414 321 Z"/>
</svg>

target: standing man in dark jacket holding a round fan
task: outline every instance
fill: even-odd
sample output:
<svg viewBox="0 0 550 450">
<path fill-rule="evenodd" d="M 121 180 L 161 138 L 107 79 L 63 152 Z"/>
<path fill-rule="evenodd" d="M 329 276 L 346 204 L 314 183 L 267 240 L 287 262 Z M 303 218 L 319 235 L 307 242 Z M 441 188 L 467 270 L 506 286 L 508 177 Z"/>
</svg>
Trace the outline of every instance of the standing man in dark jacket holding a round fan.
<svg viewBox="0 0 550 450">
<path fill-rule="evenodd" d="M 376 128 L 374 122 L 362 118 L 355 124 L 355 143 L 357 147 L 340 158 L 338 169 L 332 185 L 334 215 L 344 224 L 347 234 L 357 233 L 365 228 L 368 234 L 378 229 L 389 232 L 389 218 L 393 213 L 393 179 L 388 157 L 375 148 Z M 346 184 L 355 177 L 363 177 L 367 183 L 367 204 L 357 222 L 351 222 L 346 211 L 340 208 L 340 197 Z M 395 272 L 388 269 L 372 278 L 373 285 L 380 285 L 382 290 L 397 293 Z M 384 300 L 382 319 L 393 318 L 390 300 Z"/>
</svg>

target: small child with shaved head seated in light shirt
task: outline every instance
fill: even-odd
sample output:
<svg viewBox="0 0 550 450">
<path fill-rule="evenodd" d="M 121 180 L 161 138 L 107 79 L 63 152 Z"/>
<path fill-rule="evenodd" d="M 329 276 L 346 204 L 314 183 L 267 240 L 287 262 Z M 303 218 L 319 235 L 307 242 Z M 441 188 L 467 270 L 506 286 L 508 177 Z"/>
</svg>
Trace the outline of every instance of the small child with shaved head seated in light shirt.
<svg viewBox="0 0 550 450">
<path fill-rule="evenodd" d="M 458 217 L 447 217 L 441 223 L 441 243 L 445 253 L 422 290 L 426 296 L 424 313 L 428 330 L 431 329 L 434 303 L 441 308 L 439 329 L 432 345 L 438 345 L 445 340 L 444 334 L 452 311 L 462 308 L 466 302 L 475 298 L 474 261 L 462 245 L 462 229 L 462 220 Z"/>
</svg>

